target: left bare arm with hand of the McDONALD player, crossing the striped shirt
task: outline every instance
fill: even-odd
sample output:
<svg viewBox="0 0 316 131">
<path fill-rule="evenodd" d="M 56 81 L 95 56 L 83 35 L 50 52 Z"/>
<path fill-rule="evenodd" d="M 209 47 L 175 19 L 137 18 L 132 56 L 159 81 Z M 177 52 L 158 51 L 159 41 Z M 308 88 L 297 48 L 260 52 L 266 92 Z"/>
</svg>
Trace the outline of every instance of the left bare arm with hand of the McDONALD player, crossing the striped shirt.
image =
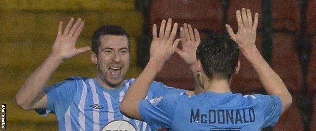
<svg viewBox="0 0 316 131">
<path fill-rule="evenodd" d="M 155 76 L 162 69 L 165 61 L 174 53 L 175 48 L 180 42 L 180 39 L 174 41 L 178 24 L 174 24 L 171 33 L 172 20 L 168 19 L 166 30 L 165 24 L 166 21 L 163 20 L 159 37 L 157 35 L 157 26 L 153 25 L 153 40 L 150 47 L 149 63 L 131 87 L 129 87 L 120 104 L 120 111 L 127 117 L 142 120 L 138 109 L 139 102 L 145 99 Z"/>
</svg>

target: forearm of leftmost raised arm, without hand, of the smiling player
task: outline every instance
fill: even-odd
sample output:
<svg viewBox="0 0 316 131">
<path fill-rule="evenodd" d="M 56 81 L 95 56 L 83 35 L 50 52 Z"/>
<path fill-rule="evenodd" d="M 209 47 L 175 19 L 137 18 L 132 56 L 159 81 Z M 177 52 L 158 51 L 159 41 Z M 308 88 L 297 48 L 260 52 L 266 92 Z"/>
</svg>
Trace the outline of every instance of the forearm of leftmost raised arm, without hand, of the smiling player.
<svg viewBox="0 0 316 131">
<path fill-rule="evenodd" d="M 49 56 L 45 62 L 27 78 L 16 94 L 16 102 L 22 109 L 32 109 L 34 103 L 44 95 L 44 87 L 60 63 L 61 60 L 59 58 Z"/>
</svg>

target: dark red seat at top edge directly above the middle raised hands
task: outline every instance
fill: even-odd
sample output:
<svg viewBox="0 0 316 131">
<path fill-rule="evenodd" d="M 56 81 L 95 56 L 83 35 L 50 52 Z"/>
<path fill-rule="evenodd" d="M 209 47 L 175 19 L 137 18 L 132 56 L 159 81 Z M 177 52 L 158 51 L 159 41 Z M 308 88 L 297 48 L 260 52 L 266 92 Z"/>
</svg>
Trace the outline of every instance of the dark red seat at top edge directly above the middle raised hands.
<svg viewBox="0 0 316 131">
<path fill-rule="evenodd" d="M 160 23 L 163 19 L 172 18 L 179 25 L 190 23 L 199 30 L 222 31 L 221 1 L 207 0 L 155 0 L 151 6 L 151 23 Z"/>
</svg>

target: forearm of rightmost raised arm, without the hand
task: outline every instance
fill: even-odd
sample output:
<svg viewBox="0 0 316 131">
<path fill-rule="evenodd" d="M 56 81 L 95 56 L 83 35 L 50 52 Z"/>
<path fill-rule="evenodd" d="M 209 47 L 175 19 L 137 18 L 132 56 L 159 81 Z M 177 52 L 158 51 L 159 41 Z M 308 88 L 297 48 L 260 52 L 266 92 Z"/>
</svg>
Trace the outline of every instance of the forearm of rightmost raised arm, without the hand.
<svg viewBox="0 0 316 131">
<path fill-rule="evenodd" d="M 243 53 L 258 73 L 266 92 L 279 96 L 283 102 L 283 107 L 288 107 L 292 103 L 292 97 L 280 76 L 273 71 L 256 48 L 243 51 Z"/>
</svg>

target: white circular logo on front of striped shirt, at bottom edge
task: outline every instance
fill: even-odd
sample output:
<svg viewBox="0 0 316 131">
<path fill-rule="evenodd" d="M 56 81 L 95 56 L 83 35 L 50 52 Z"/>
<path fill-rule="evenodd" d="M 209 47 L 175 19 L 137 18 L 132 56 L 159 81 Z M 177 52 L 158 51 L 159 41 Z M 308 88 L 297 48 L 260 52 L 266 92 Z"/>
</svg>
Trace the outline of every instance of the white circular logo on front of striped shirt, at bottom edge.
<svg viewBox="0 0 316 131">
<path fill-rule="evenodd" d="M 114 121 L 109 122 L 102 129 L 102 131 L 113 131 L 113 130 L 136 131 L 136 128 L 128 121 L 114 120 Z"/>
</svg>

